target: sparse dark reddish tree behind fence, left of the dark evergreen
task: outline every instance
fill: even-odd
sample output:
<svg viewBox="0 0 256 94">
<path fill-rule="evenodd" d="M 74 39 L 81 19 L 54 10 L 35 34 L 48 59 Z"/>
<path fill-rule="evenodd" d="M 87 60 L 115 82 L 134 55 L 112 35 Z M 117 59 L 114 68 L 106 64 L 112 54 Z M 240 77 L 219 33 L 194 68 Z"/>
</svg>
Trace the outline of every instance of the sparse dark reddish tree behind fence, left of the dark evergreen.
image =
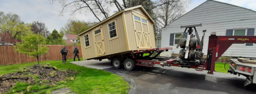
<svg viewBox="0 0 256 94">
<path fill-rule="evenodd" d="M 34 34 L 40 34 L 44 37 L 49 36 L 51 33 L 48 31 L 48 28 L 43 22 L 33 21 L 31 25 L 31 30 L 34 31 Z"/>
</svg>

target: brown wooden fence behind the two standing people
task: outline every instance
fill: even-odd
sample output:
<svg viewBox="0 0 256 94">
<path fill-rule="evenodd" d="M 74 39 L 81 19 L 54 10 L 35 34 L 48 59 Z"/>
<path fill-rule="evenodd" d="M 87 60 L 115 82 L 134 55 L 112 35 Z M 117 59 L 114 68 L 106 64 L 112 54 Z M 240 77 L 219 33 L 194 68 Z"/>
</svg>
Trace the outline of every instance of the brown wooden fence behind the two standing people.
<svg viewBox="0 0 256 94">
<path fill-rule="evenodd" d="M 39 61 L 52 61 L 52 60 L 62 60 L 62 55 L 60 50 L 64 45 L 46 45 L 50 49 L 48 53 L 45 53 L 41 57 L 39 57 Z M 72 59 L 74 57 L 73 50 L 74 45 L 68 45 L 66 49 L 68 49 L 67 59 Z M 79 49 L 79 57 L 82 57 L 81 46 L 77 46 Z M 0 65 L 9 65 L 9 64 L 18 64 L 18 63 L 29 63 L 29 62 L 37 62 L 36 57 L 32 58 L 29 55 L 24 55 L 22 53 L 18 53 L 13 49 L 12 46 L 0 46 Z"/>
</svg>

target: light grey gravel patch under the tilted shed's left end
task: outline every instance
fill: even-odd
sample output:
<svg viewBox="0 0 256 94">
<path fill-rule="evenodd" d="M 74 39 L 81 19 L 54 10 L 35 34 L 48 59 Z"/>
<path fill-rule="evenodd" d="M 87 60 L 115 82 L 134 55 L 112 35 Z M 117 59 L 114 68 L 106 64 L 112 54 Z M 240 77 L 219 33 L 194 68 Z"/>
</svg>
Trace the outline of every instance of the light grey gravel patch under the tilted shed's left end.
<svg viewBox="0 0 256 94">
<path fill-rule="evenodd" d="M 113 67 L 111 66 L 110 61 L 108 61 L 108 59 L 103 59 L 102 61 L 97 61 L 97 60 L 73 61 L 70 63 L 78 66 L 83 66 L 83 67 L 92 68 L 92 69 L 101 69 L 101 70 Z"/>
</svg>

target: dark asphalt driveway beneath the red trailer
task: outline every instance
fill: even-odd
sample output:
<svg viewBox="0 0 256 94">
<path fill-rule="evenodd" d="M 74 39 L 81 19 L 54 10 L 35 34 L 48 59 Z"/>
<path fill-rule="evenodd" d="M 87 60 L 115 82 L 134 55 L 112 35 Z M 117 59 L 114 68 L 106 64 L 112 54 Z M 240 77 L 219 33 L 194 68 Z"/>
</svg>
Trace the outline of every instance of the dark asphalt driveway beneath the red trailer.
<svg viewBox="0 0 256 94">
<path fill-rule="evenodd" d="M 90 62 L 95 61 L 79 63 L 86 67 Z M 101 61 L 97 61 L 95 66 L 99 63 Z M 110 65 L 110 61 L 103 63 Z M 134 71 L 126 71 L 124 68 L 104 70 L 120 75 L 128 81 L 131 87 L 128 94 L 256 94 L 256 85 L 251 88 L 243 86 L 245 77 L 242 75 L 221 72 L 211 75 L 207 74 L 207 71 L 161 66 L 137 67 Z"/>
</svg>

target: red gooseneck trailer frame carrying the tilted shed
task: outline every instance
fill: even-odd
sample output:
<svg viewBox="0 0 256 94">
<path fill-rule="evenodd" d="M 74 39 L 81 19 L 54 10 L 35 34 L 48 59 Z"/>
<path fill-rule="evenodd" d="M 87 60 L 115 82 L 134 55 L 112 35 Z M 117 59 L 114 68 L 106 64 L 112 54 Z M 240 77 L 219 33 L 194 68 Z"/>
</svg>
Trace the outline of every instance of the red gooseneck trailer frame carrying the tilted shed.
<svg viewBox="0 0 256 94">
<path fill-rule="evenodd" d="M 178 58 L 176 59 L 156 58 L 156 56 L 158 56 L 164 50 L 168 51 L 169 49 L 172 49 L 172 47 L 136 51 L 132 53 L 118 55 L 118 57 L 120 60 L 124 60 L 126 58 L 132 58 L 135 60 L 135 64 L 138 66 L 154 67 L 154 65 L 157 64 L 157 65 L 161 65 L 162 67 L 164 66 L 187 67 L 187 68 L 199 69 L 197 71 L 208 70 L 208 74 L 213 74 L 215 69 L 215 62 L 233 43 L 256 43 L 256 36 L 210 35 L 209 42 L 208 42 L 208 53 L 207 53 L 208 58 L 202 61 L 200 65 L 193 65 L 191 63 L 194 63 L 194 61 L 186 61 Z M 154 57 L 150 57 L 154 52 L 158 52 L 158 54 Z M 148 57 L 142 58 L 141 56 L 143 56 L 144 53 L 150 53 L 150 55 Z M 108 59 L 112 60 L 112 57 Z M 186 63 L 188 65 L 184 65 L 182 63 Z"/>
</svg>

